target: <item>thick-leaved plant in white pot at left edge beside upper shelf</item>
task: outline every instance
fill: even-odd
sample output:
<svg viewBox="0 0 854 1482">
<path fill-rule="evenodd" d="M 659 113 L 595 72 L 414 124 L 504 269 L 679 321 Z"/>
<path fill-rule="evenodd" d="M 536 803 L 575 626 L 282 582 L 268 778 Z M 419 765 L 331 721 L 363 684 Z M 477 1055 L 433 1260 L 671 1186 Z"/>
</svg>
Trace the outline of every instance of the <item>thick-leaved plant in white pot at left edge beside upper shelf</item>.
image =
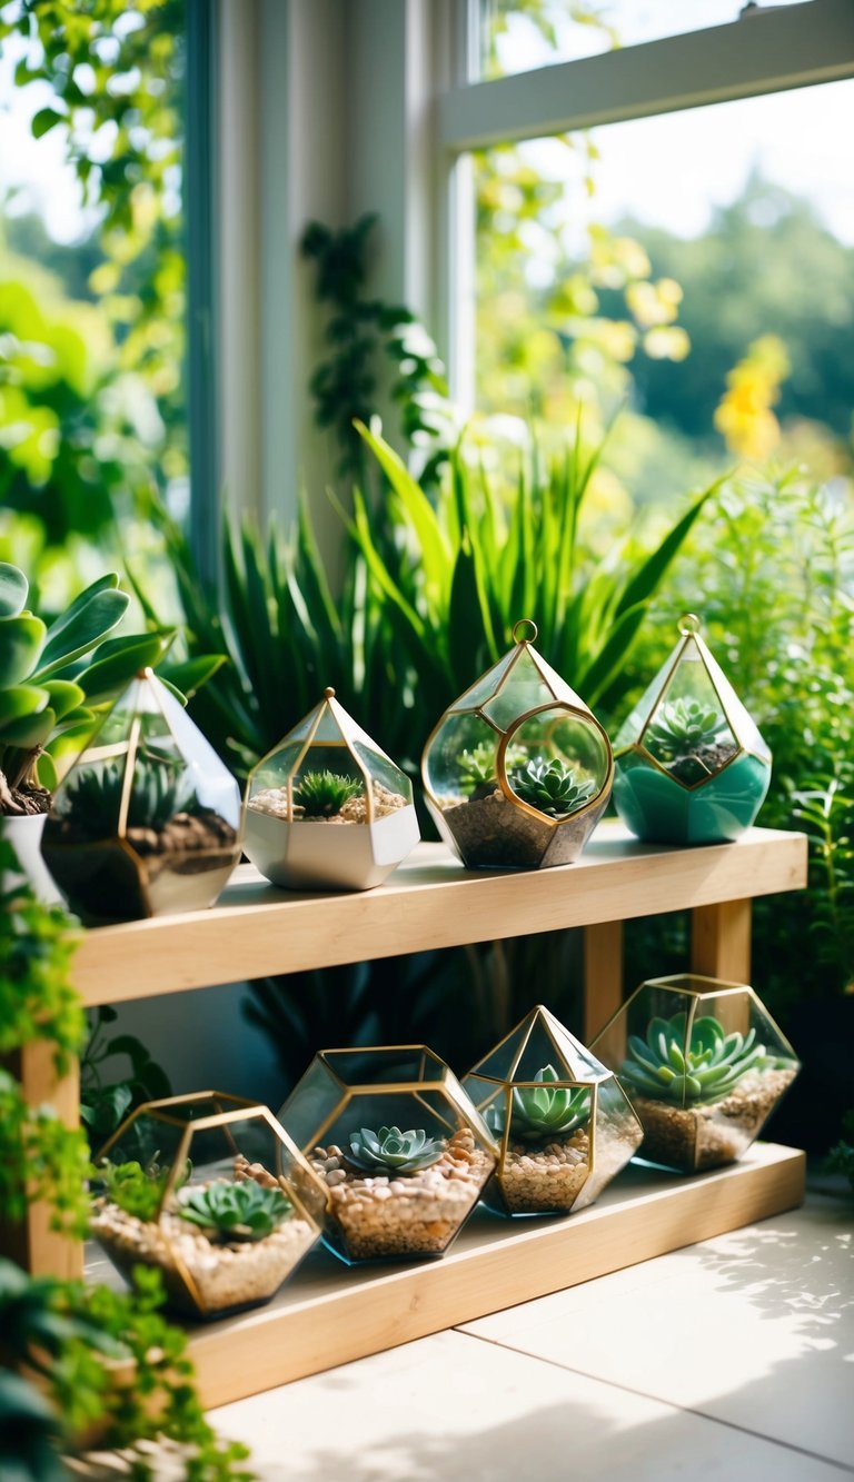
<svg viewBox="0 0 854 1482">
<path fill-rule="evenodd" d="M 40 857 L 58 782 L 52 751 L 83 745 L 98 711 L 166 648 L 162 634 L 108 639 L 129 597 L 110 574 L 90 582 L 53 624 L 27 608 L 28 581 L 0 562 L 0 815 L 43 900 L 58 900 Z"/>
</svg>

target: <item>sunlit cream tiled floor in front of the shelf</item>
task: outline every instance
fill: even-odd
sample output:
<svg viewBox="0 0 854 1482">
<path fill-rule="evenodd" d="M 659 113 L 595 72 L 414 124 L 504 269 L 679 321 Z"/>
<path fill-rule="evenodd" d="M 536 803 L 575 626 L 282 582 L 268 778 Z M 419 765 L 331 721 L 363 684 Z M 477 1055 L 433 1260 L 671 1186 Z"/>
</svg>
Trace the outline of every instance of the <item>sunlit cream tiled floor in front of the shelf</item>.
<svg viewBox="0 0 854 1482">
<path fill-rule="evenodd" d="M 212 1418 L 264 1482 L 854 1476 L 853 1232 L 812 1194 Z"/>
</svg>

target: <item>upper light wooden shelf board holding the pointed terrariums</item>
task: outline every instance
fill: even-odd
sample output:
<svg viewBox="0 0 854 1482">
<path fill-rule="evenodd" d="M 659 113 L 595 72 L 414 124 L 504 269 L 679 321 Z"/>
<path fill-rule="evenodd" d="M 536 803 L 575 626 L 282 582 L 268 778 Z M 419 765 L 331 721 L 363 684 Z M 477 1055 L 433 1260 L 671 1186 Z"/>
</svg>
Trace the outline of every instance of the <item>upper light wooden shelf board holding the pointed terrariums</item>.
<svg viewBox="0 0 854 1482">
<path fill-rule="evenodd" d="M 242 865 L 208 911 L 86 932 L 76 981 L 89 1006 L 463 943 L 596 926 L 801 889 L 807 839 L 750 828 L 737 843 L 643 845 L 617 820 L 577 864 L 467 873 L 443 845 L 420 845 L 375 891 L 277 891 Z M 722 972 L 722 977 L 726 974 Z"/>
</svg>

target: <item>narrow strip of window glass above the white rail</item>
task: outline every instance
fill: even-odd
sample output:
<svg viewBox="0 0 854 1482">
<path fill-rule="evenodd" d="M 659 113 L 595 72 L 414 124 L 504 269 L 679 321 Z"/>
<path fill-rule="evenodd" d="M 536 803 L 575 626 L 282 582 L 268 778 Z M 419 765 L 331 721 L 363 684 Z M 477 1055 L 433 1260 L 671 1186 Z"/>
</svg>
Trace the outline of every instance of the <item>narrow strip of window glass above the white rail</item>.
<svg viewBox="0 0 854 1482">
<path fill-rule="evenodd" d="M 802 0 L 783 0 L 798 4 Z M 777 9 L 768 0 L 756 6 Z M 482 77 L 526 73 L 550 62 L 574 62 L 596 56 L 612 46 L 639 46 L 685 31 L 737 21 L 744 0 L 603 0 L 575 4 L 574 0 L 480 0 Z M 746 16 L 753 22 L 753 16 Z"/>
</svg>

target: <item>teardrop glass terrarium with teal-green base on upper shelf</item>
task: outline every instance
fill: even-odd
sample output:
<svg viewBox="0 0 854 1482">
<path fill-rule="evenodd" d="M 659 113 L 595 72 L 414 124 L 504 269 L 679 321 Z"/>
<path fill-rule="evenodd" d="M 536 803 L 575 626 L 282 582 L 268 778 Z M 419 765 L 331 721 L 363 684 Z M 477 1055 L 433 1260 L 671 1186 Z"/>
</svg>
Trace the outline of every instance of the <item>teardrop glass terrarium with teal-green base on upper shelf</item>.
<svg viewBox="0 0 854 1482">
<path fill-rule="evenodd" d="M 686 614 L 681 640 L 614 742 L 614 803 L 639 839 L 715 843 L 750 827 L 771 753 Z"/>
</svg>

